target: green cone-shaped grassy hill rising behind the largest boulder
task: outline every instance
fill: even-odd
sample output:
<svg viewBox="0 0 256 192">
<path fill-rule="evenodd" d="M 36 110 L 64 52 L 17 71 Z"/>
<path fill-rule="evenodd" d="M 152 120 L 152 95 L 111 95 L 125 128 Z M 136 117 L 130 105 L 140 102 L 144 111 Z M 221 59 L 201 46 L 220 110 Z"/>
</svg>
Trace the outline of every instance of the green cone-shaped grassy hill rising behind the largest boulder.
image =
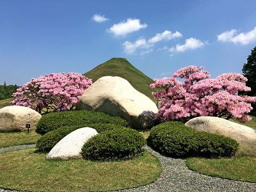
<svg viewBox="0 0 256 192">
<path fill-rule="evenodd" d="M 129 81 L 136 90 L 154 100 L 151 94 L 152 89 L 149 86 L 153 80 L 137 68 L 133 67 L 125 58 L 112 58 L 83 75 L 92 79 L 93 82 L 103 76 L 122 77 Z"/>
</svg>

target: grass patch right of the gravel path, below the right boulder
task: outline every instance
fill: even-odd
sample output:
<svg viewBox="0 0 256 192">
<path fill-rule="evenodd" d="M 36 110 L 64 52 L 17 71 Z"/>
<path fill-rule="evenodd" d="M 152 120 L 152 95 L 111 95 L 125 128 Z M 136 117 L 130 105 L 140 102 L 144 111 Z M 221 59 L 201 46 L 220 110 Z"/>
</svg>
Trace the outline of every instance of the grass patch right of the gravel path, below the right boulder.
<svg viewBox="0 0 256 192">
<path fill-rule="evenodd" d="M 242 155 L 230 159 L 191 157 L 186 160 L 186 165 L 189 169 L 205 175 L 256 182 L 256 157 Z"/>
</svg>

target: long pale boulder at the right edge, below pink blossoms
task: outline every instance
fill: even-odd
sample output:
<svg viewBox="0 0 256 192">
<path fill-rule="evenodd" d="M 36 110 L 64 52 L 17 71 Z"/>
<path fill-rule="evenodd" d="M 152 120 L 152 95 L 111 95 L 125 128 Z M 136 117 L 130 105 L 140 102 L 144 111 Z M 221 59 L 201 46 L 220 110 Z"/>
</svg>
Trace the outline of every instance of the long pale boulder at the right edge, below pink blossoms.
<svg viewBox="0 0 256 192">
<path fill-rule="evenodd" d="M 196 130 L 227 136 L 239 143 L 239 152 L 256 156 L 256 130 L 215 116 L 199 116 L 185 124 Z"/>
</svg>

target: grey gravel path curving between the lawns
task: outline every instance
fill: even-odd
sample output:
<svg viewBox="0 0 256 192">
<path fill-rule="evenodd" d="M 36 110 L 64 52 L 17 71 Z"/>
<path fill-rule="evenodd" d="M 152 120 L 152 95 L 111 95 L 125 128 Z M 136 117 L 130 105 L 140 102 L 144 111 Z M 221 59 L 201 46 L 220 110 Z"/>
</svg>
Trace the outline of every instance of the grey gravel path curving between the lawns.
<svg viewBox="0 0 256 192">
<path fill-rule="evenodd" d="M 35 145 L 20 145 L 15 147 L 0 148 L 1 152 L 8 150 L 17 150 L 21 148 L 35 147 Z M 220 179 L 210 177 L 200 173 L 193 172 L 186 167 L 186 160 L 173 159 L 161 156 L 158 152 L 150 147 L 145 147 L 149 152 L 159 157 L 163 166 L 161 177 L 151 184 L 131 189 L 121 189 L 116 191 L 136 192 L 195 192 L 195 191 L 212 191 L 212 192 L 256 192 L 256 183 L 242 182 L 236 180 Z M 15 190 L 0 188 L 0 192 L 10 192 Z"/>
</svg>

